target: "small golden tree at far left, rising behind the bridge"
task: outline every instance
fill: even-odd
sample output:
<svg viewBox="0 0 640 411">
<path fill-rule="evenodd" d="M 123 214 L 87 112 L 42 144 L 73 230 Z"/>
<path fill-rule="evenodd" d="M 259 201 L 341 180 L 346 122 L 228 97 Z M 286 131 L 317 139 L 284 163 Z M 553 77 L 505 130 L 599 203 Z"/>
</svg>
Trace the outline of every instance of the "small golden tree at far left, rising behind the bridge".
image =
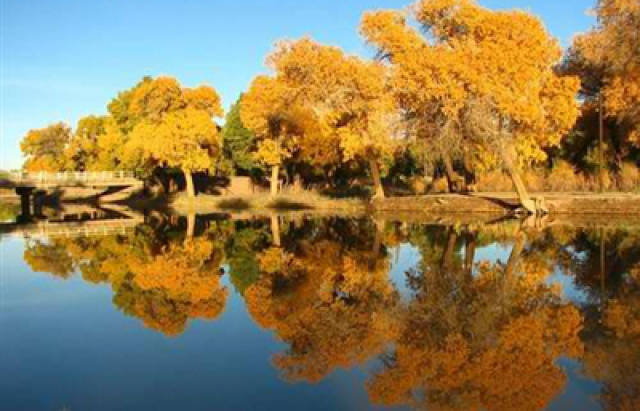
<svg viewBox="0 0 640 411">
<path fill-rule="evenodd" d="M 71 139 L 71 128 L 56 123 L 45 128 L 29 130 L 20 142 L 26 157 L 23 168 L 27 171 L 61 171 L 67 166 L 65 149 Z"/>
</svg>

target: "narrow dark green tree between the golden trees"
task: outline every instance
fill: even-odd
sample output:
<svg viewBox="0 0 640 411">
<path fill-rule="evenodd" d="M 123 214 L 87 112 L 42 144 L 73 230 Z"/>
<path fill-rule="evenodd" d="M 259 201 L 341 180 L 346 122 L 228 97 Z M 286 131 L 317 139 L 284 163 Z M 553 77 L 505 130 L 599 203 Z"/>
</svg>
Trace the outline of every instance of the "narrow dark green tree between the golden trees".
<svg viewBox="0 0 640 411">
<path fill-rule="evenodd" d="M 245 127 L 240 116 L 242 95 L 231 106 L 222 127 L 223 150 L 235 172 L 252 174 L 259 168 L 254 156 L 255 135 Z"/>
</svg>

